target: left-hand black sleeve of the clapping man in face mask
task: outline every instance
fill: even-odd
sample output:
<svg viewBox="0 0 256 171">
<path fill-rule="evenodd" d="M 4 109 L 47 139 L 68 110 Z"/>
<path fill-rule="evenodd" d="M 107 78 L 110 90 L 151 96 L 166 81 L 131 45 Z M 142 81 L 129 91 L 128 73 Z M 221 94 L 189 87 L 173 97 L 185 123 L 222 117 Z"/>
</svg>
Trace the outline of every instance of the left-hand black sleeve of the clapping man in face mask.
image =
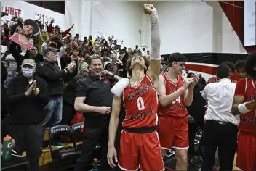
<svg viewBox="0 0 256 171">
<path fill-rule="evenodd" d="M 15 85 L 19 85 L 19 83 L 16 83 L 15 78 L 12 78 L 7 87 L 6 101 L 8 104 L 16 104 L 26 98 L 25 92 L 19 94 L 15 93 Z"/>
</svg>

